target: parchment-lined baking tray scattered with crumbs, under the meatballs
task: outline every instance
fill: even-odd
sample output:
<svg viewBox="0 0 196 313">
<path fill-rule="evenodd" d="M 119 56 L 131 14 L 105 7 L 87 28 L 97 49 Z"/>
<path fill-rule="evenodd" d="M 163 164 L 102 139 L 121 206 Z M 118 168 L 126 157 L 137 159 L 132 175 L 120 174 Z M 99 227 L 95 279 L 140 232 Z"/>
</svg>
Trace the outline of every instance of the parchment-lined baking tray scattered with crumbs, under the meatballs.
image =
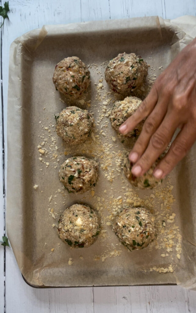
<svg viewBox="0 0 196 313">
<path fill-rule="evenodd" d="M 144 97 L 190 40 L 169 22 L 149 17 L 44 26 L 12 43 L 7 232 L 30 285 L 195 284 L 196 146 L 161 187 L 132 188 L 122 162 L 134 141 L 123 141 L 112 129 L 108 115 L 116 98 L 104 81 L 106 61 L 124 51 L 135 52 L 149 64 L 147 83 L 137 94 Z M 92 137 L 74 148 L 56 135 L 53 117 L 68 105 L 52 83 L 55 64 L 67 56 L 78 56 L 89 65 L 91 87 L 77 105 L 95 118 Z M 68 194 L 58 180 L 60 165 L 76 154 L 99 162 L 98 182 L 83 195 Z M 75 202 L 87 203 L 101 215 L 102 231 L 88 249 L 71 249 L 57 236 L 59 215 Z M 145 205 L 156 216 L 158 237 L 146 249 L 129 252 L 112 231 L 117 210 L 127 204 Z"/>
</svg>

